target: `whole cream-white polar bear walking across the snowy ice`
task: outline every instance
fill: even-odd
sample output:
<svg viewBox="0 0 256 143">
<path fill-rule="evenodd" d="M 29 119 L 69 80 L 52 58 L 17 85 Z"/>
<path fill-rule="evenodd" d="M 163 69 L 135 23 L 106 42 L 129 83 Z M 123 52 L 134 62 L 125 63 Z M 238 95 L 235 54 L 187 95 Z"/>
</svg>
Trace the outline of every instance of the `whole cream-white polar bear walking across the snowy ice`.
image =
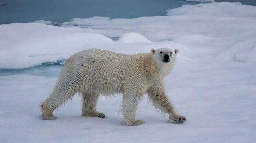
<svg viewBox="0 0 256 143">
<path fill-rule="evenodd" d="M 42 116 L 53 120 L 53 112 L 76 93 L 82 94 L 82 116 L 105 118 L 96 110 L 100 95 L 123 93 L 121 111 L 127 126 L 145 123 L 135 120 L 138 103 L 144 94 L 174 122 L 185 122 L 165 91 L 164 77 L 176 63 L 178 50 L 151 49 L 150 53 L 126 55 L 89 49 L 67 59 L 50 96 L 41 105 Z"/>
</svg>

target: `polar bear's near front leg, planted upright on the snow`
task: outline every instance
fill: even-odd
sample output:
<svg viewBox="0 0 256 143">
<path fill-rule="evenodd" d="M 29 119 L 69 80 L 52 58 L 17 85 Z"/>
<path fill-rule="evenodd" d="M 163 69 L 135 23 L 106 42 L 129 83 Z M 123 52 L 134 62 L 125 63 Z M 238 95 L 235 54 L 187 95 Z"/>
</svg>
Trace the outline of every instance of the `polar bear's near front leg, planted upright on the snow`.
<svg viewBox="0 0 256 143">
<path fill-rule="evenodd" d="M 135 126 L 145 123 L 141 120 L 135 120 L 135 114 L 138 103 L 143 94 L 141 93 L 124 93 L 121 110 L 123 112 L 123 122 L 127 126 Z"/>
</svg>

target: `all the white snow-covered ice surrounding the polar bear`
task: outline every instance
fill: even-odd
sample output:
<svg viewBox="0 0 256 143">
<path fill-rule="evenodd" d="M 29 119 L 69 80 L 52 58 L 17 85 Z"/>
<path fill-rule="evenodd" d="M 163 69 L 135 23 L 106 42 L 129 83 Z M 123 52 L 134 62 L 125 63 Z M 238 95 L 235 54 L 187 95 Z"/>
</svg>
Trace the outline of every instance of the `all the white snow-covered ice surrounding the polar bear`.
<svg viewBox="0 0 256 143">
<path fill-rule="evenodd" d="M 49 21 L 0 25 L 0 69 L 61 64 L 88 48 L 126 54 L 179 49 L 166 87 L 188 119 L 172 123 L 144 97 L 136 118 L 146 124 L 125 126 L 121 95 L 99 99 L 97 110 L 108 118 L 81 117 L 76 95 L 56 110 L 56 120 L 42 120 L 40 102 L 57 78 L 0 76 L 0 143 L 254 143 L 255 23 L 256 7 L 224 2 L 184 5 L 167 16 L 75 18 L 61 27 Z"/>
</svg>

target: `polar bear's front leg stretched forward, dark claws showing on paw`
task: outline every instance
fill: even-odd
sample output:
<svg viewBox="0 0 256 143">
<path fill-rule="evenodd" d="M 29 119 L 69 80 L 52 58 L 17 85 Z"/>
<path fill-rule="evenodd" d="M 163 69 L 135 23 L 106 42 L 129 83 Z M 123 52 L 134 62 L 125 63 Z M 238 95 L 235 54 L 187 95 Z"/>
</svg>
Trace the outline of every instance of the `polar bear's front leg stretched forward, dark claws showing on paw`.
<svg viewBox="0 0 256 143">
<path fill-rule="evenodd" d="M 163 113 L 168 113 L 170 115 L 170 120 L 178 123 L 186 121 L 186 117 L 179 115 L 171 100 L 168 99 L 163 86 L 163 81 L 155 82 L 155 84 L 149 88 L 147 94 L 154 107 L 158 108 Z"/>
</svg>

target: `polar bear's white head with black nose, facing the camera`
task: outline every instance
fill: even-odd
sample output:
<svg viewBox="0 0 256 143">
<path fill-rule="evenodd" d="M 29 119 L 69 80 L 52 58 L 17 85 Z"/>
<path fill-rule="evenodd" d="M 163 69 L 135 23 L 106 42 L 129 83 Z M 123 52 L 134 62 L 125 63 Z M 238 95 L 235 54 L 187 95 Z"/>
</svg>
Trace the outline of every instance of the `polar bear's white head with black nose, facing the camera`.
<svg viewBox="0 0 256 143">
<path fill-rule="evenodd" d="M 151 49 L 151 53 L 153 54 L 154 60 L 160 65 L 162 64 L 175 64 L 176 63 L 176 55 L 178 54 L 179 50 L 175 49 Z"/>
</svg>

